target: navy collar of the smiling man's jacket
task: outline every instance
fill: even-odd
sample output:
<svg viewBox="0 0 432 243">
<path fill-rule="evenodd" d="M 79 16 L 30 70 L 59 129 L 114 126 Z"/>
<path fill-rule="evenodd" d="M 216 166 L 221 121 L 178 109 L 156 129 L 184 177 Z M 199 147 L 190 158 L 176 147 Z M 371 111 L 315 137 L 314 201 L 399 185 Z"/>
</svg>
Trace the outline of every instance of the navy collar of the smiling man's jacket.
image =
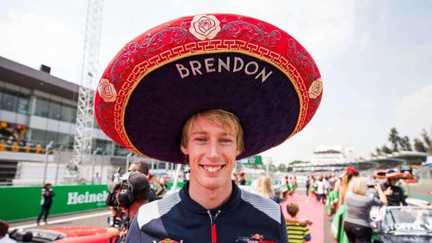
<svg viewBox="0 0 432 243">
<path fill-rule="evenodd" d="M 232 192 L 230 198 L 226 201 L 226 203 L 220 205 L 219 207 L 216 207 L 214 209 L 210 209 L 211 211 L 228 211 L 229 209 L 232 209 L 237 205 L 237 203 L 241 200 L 241 189 L 237 187 L 237 185 L 231 181 L 232 183 Z M 194 211 L 195 213 L 207 213 L 207 209 L 202 207 L 199 203 L 195 202 L 189 196 L 189 181 L 180 189 L 179 192 L 180 198 L 182 200 L 182 203 L 191 211 Z"/>
</svg>

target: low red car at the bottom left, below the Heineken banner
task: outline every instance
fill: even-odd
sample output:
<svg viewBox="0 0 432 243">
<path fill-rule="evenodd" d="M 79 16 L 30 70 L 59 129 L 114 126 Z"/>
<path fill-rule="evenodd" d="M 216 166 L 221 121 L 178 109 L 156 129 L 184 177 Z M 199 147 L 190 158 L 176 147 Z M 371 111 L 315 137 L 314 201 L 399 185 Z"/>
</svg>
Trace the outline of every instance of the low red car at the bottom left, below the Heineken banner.
<svg viewBox="0 0 432 243">
<path fill-rule="evenodd" d="M 107 228 L 90 226 L 51 227 L 14 230 L 9 233 L 16 242 L 109 243 Z M 115 239 L 112 239 L 114 242 Z"/>
</svg>

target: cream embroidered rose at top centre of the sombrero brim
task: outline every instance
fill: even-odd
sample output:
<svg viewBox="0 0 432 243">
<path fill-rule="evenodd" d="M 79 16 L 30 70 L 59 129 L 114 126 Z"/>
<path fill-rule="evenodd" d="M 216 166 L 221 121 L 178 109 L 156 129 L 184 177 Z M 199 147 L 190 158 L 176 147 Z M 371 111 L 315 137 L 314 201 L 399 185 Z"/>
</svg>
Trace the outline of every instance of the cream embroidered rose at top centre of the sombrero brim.
<svg viewBox="0 0 432 243">
<path fill-rule="evenodd" d="M 221 31 L 220 22 L 213 15 L 197 15 L 193 17 L 189 32 L 200 40 L 211 40 Z"/>
</svg>

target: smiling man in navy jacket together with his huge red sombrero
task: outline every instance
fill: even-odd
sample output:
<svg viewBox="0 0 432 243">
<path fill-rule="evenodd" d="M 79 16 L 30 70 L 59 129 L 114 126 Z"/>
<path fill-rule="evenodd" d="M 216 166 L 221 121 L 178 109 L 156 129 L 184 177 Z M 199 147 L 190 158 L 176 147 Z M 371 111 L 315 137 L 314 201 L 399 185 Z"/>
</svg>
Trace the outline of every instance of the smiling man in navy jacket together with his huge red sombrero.
<svg viewBox="0 0 432 243">
<path fill-rule="evenodd" d="M 300 43 L 248 16 L 187 16 L 125 45 L 97 87 L 99 126 L 128 150 L 191 167 L 180 192 L 139 209 L 127 242 L 287 242 L 280 206 L 230 178 L 236 160 L 300 132 L 321 97 Z"/>
</svg>

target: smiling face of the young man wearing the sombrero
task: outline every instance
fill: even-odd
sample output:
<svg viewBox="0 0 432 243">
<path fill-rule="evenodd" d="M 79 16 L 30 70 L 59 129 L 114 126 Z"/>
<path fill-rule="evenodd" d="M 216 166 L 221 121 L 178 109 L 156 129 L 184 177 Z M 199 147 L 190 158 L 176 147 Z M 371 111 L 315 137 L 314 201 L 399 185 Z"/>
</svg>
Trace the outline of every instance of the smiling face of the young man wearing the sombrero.
<svg viewBox="0 0 432 243">
<path fill-rule="evenodd" d="M 215 126 L 205 119 L 197 119 L 191 128 L 187 148 L 191 183 L 206 189 L 217 189 L 231 183 L 235 157 L 240 154 L 235 135 L 228 134 L 222 126 Z"/>
</svg>

